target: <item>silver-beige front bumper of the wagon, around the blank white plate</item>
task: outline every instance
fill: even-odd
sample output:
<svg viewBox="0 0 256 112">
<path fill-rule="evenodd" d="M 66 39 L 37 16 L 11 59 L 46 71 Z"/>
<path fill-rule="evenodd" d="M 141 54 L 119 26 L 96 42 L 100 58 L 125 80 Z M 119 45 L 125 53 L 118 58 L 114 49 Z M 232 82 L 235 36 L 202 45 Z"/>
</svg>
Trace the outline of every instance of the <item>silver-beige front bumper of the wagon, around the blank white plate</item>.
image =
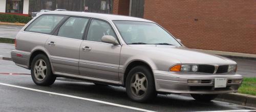
<svg viewBox="0 0 256 112">
<path fill-rule="evenodd" d="M 240 83 L 232 80 L 243 79 L 239 74 L 203 74 L 203 73 L 174 73 L 153 71 L 156 91 L 159 93 L 176 94 L 224 94 L 238 92 Z M 227 86 L 215 88 L 215 78 L 227 78 Z M 201 80 L 202 83 L 188 83 L 187 80 Z"/>
</svg>

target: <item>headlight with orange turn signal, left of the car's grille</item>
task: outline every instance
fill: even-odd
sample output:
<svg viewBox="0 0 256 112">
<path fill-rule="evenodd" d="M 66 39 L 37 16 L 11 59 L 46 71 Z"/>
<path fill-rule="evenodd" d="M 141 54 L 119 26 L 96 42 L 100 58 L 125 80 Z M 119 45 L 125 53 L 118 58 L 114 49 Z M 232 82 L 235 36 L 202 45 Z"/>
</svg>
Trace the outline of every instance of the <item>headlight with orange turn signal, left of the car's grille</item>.
<svg viewBox="0 0 256 112">
<path fill-rule="evenodd" d="M 176 64 L 172 66 L 169 71 L 172 72 L 197 72 L 198 65 L 195 64 Z"/>
</svg>

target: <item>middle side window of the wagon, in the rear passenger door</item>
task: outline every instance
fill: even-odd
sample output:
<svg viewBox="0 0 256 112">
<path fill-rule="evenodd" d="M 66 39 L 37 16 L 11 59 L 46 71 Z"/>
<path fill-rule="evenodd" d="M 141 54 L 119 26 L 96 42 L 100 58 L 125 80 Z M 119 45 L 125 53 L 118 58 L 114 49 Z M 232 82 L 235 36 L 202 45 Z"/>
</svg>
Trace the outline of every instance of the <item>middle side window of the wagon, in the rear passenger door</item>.
<svg viewBox="0 0 256 112">
<path fill-rule="evenodd" d="M 59 28 L 58 36 L 82 39 L 88 20 L 88 18 L 70 17 Z"/>
</svg>

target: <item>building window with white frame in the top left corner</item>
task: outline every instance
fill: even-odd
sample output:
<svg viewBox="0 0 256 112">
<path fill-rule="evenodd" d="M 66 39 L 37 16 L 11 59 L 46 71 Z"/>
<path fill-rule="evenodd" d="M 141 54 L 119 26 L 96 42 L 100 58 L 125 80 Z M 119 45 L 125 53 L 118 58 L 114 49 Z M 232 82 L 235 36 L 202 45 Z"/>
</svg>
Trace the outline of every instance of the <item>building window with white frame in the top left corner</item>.
<svg viewBox="0 0 256 112">
<path fill-rule="evenodd" d="M 23 13 L 23 0 L 7 0 L 6 12 L 7 13 Z"/>
</svg>

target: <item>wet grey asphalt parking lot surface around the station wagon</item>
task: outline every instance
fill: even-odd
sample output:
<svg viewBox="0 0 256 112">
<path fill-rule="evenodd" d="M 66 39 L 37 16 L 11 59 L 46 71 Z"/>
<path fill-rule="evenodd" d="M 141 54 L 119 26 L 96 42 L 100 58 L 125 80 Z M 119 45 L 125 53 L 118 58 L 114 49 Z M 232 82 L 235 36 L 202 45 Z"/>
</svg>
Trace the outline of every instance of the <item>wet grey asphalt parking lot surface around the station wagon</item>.
<svg viewBox="0 0 256 112">
<path fill-rule="evenodd" d="M 0 26 L 0 36 L 14 37 L 22 27 Z M 10 57 L 13 44 L 0 43 L 0 56 Z M 256 61 L 238 62 L 238 73 L 256 77 Z M 30 71 L 0 59 L 0 111 L 256 111 L 256 108 L 212 101 L 198 102 L 189 95 L 158 95 L 148 103 L 132 102 L 125 88 L 57 78 L 51 86 L 37 86 Z"/>
</svg>

